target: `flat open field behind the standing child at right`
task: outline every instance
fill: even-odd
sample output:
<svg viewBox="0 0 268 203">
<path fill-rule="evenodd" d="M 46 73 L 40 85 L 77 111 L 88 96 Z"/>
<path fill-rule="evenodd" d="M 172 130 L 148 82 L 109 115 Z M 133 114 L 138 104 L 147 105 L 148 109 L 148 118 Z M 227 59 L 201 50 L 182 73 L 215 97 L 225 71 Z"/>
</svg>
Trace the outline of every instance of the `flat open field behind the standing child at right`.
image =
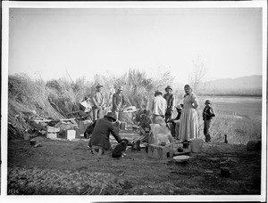
<svg viewBox="0 0 268 203">
<path fill-rule="evenodd" d="M 212 137 L 214 142 L 223 142 L 224 134 L 228 141 L 247 144 L 249 140 L 260 139 L 262 134 L 262 98 L 243 96 L 202 96 L 199 98 L 199 117 L 205 106 L 205 100 L 213 102 L 216 117 L 213 119 Z M 203 137 L 203 120 L 199 118 Z"/>
</svg>

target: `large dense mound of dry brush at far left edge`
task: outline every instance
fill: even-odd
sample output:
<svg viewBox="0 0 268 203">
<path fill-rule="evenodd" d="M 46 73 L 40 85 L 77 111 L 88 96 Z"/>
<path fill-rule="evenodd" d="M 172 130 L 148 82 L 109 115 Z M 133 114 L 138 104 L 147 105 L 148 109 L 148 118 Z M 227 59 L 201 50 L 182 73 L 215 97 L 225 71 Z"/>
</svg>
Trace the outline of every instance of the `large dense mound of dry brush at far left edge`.
<svg viewBox="0 0 268 203">
<path fill-rule="evenodd" d="M 30 128 L 24 118 L 47 117 L 63 118 L 47 101 L 45 83 L 25 74 L 8 77 L 8 122 L 23 134 Z"/>
</svg>

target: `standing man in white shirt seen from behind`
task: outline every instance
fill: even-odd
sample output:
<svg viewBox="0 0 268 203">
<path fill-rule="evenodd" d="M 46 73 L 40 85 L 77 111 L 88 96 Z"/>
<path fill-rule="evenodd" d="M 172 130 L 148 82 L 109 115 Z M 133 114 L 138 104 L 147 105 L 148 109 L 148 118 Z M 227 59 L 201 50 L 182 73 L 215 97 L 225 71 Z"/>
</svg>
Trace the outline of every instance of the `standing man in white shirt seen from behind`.
<svg viewBox="0 0 268 203">
<path fill-rule="evenodd" d="M 155 118 L 157 117 L 164 118 L 165 111 L 166 111 L 166 100 L 163 99 L 163 93 L 156 90 L 152 107 L 153 123 L 155 123 Z"/>
</svg>

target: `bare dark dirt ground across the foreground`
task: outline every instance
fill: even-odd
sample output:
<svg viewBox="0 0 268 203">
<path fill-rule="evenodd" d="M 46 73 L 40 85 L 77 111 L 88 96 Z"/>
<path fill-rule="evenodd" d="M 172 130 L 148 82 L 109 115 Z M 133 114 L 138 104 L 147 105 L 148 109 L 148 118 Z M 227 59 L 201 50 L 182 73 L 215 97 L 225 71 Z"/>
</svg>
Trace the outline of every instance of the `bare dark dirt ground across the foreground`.
<svg viewBox="0 0 268 203">
<path fill-rule="evenodd" d="M 187 163 L 148 158 L 127 150 L 127 156 L 101 157 L 88 141 L 44 138 L 33 147 L 20 138 L 8 142 L 8 194 L 12 195 L 254 195 L 260 194 L 261 152 L 245 145 L 204 143 Z M 220 168 L 230 168 L 222 177 Z"/>
</svg>

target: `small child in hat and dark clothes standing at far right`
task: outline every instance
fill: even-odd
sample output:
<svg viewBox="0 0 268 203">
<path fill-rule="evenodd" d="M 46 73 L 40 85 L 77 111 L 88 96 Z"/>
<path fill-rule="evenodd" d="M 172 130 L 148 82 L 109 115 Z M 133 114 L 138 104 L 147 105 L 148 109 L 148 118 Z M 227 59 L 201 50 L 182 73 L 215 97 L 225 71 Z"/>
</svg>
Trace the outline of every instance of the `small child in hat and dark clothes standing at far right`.
<svg viewBox="0 0 268 203">
<path fill-rule="evenodd" d="M 210 136 L 211 120 L 215 116 L 214 110 L 211 106 L 212 102 L 206 100 L 205 108 L 203 110 L 205 142 L 211 142 L 211 136 Z"/>
</svg>

